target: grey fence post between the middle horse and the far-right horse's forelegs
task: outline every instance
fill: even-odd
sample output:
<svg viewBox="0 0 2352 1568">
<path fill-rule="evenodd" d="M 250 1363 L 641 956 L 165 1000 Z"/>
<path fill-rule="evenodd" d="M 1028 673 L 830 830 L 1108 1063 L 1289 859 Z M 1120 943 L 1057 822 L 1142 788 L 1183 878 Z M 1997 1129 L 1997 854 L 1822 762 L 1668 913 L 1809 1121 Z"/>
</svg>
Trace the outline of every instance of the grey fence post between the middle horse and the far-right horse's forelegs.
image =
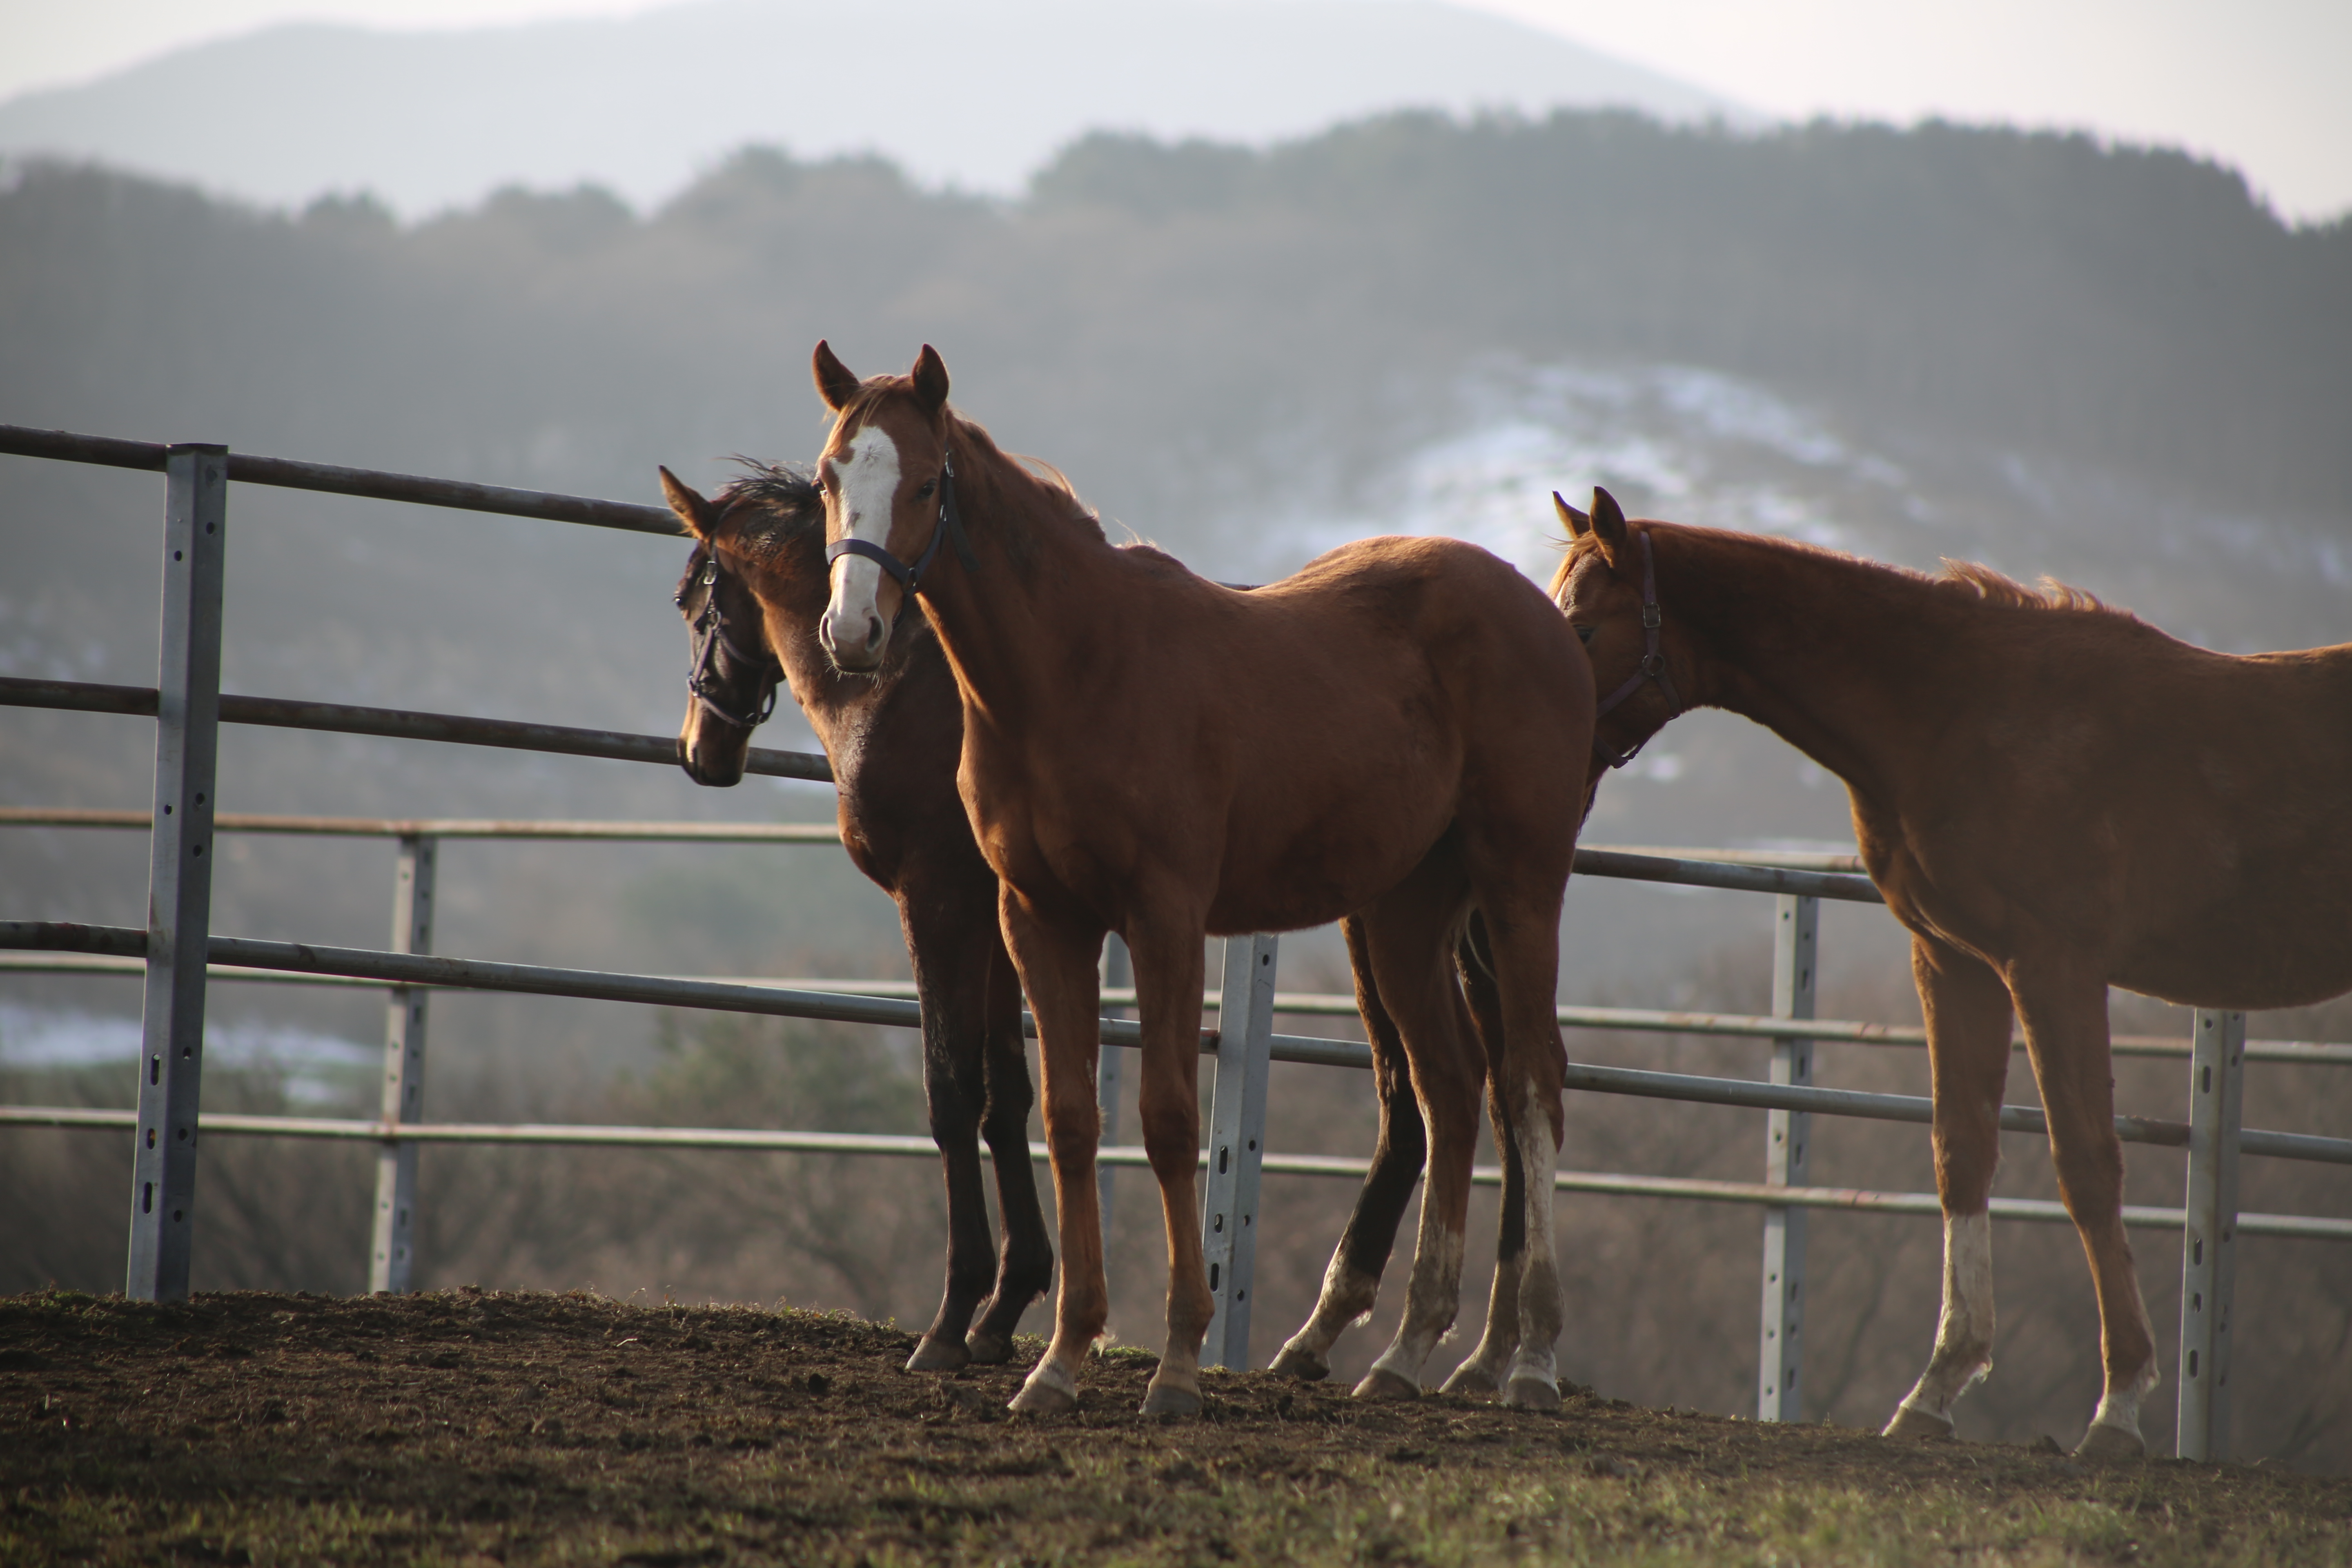
<svg viewBox="0 0 2352 1568">
<path fill-rule="evenodd" d="M 1771 1016 L 1813 1016 L 1820 900 L 1780 893 L 1771 945 Z M 1813 1041 L 1773 1037 L 1771 1081 L 1811 1084 Z M 1764 1185 L 1804 1187 L 1813 1143 L 1806 1112 L 1764 1112 Z M 1804 1211 L 1764 1211 L 1764 1326 L 1757 1354 L 1757 1420 L 1804 1420 Z"/>
</svg>

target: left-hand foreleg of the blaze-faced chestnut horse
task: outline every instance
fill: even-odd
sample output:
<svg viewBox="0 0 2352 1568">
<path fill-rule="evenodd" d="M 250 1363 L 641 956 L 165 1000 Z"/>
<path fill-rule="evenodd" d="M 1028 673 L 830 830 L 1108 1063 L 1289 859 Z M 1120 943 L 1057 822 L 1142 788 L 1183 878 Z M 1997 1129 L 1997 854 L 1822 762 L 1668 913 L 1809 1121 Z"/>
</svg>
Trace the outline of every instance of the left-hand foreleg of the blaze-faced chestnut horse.
<svg viewBox="0 0 2352 1568">
<path fill-rule="evenodd" d="M 1094 1185 L 1094 1147 L 1103 1114 L 1094 1098 L 1101 1051 L 1101 931 L 1051 924 L 1009 884 L 1000 893 L 1004 945 L 1021 971 L 1037 1013 L 1037 1056 L 1044 1067 L 1044 1143 L 1054 1161 L 1054 1208 L 1061 1215 L 1061 1295 L 1054 1302 L 1054 1342 L 1030 1368 L 1014 1410 L 1040 1415 L 1077 1408 L 1077 1368 L 1110 1319 L 1103 1279 L 1103 1215 Z"/>
</svg>

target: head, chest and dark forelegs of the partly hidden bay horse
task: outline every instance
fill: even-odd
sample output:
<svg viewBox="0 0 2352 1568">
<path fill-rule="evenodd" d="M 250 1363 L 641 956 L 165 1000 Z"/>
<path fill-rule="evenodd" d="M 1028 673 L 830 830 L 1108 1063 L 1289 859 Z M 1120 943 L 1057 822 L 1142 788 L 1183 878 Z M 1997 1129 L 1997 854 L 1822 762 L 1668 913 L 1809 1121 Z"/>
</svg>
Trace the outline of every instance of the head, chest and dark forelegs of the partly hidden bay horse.
<svg viewBox="0 0 2352 1568">
<path fill-rule="evenodd" d="M 1021 1314 L 1054 1284 L 1054 1244 L 1030 1168 L 1028 1044 L 997 933 L 997 875 L 955 795 L 955 677 L 920 628 L 870 675 L 842 675 L 816 646 L 826 503 L 807 475 L 755 468 L 706 501 L 663 468 L 661 489 L 696 538 L 677 583 L 694 628 L 680 762 L 696 783 L 739 783 L 781 675 L 833 759 L 849 858 L 898 903 L 922 999 L 922 1091 L 948 1178 L 948 1286 L 908 1368 L 1009 1361 Z M 993 1262 L 983 1135 L 1004 1218 Z"/>
</svg>

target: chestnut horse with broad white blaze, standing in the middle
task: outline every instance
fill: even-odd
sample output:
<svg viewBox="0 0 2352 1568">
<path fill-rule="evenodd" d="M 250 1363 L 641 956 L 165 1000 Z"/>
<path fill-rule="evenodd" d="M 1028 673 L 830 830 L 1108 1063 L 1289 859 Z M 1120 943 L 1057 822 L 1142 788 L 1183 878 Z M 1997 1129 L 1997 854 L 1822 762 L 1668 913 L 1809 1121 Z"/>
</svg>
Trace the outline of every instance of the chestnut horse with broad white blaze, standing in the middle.
<svg viewBox="0 0 2352 1568">
<path fill-rule="evenodd" d="M 877 668 L 920 602 L 962 696 L 957 785 L 1037 1013 L 1063 1274 L 1054 1342 L 1014 1408 L 1068 1410 L 1108 1319 L 1094 1182 L 1105 931 L 1136 964 L 1143 1143 L 1169 1241 L 1167 1349 L 1143 1408 L 1190 1413 L 1211 1314 L 1195 1197 L 1202 938 L 1355 914 L 1411 1044 L 1458 1023 L 1454 952 L 1472 910 L 1496 978 L 1494 1093 L 1531 1173 L 1503 1392 L 1555 1406 L 1566 1058 L 1552 992 L 1576 851 L 1562 806 L 1583 799 L 1592 722 L 1566 623 L 1508 564 L 1439 538 L 1364 541 L 1268 588 L 1221 588 L 1160 550 L 1112 548 L 1065 484 L 948 409 L 931 348 L 908 376 L 861 383 L 818 343 L 814 374 L 835 411 L 818 637 L 844 670 Z M 1432 1135 L 1475 1124 L 1475 1081 L 1456 1098 Z M 1458 1211 L 1439 1173 L 1432 1161 L 1423 1208 Z M 1418 1260 L 1414 1284 L 1421 1312 Z"/>
</svg>

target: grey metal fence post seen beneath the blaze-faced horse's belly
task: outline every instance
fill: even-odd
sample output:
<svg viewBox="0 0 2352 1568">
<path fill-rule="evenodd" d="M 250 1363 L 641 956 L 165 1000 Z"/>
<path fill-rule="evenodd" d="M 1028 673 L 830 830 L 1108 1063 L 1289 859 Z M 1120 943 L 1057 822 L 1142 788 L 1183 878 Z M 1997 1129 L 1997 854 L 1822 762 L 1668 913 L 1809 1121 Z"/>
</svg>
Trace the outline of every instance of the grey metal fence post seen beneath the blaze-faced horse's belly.
<svg viewBox="0 0 2352 1568">
<path fill-rule="evenodd" d="M 1275 1044 L 1275 938 L 1225 938 L 1225 987 L 1216 1016 L 1216 1095 L 1209 1103 L 1209 1194 L 1202 1251 L 1209 1260 L 1209 1338 L 1202 1366 L 1249 1371 L 1249 1307 L 1258 1262 L 1258 1171 L 1265 1164 L 1265 1072 Z"/>
</svg>

